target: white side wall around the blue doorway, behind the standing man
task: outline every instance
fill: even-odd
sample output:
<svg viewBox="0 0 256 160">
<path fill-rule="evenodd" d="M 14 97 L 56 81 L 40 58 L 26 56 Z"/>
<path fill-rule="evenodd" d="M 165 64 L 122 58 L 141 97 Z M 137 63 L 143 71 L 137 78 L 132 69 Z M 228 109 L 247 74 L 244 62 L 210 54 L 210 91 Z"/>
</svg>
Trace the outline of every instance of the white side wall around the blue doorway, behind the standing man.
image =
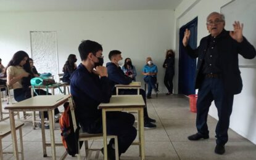
<svg viewBox="0 0 256 160">
<path fill-rule="evenodd" d="M 183 2 L 181 2 L 181 4 L 175 10 L 176 52 L 178 53 L 178 32 L 181 26 L 190 22 L 195 17 L 198 17 L 198 46 L 200 39 L 209 34 L 205 25 L 207 15 L 213 11 L 220 12 L 221 7 L 225 4 L 228 4 L 228 2 L 231 2 L 231 0 L 183 0 Z M 246 10 L 244 12 L 246 12 Z M 178 65 L 178 56 L 176 58 L 176 65 Z M 256 144 L 256 72 L 255 68 L 240 68 L 240 70 L 242 72 L 241 76 L 243 79 L 244 88 L 241 94 L 234 97 L 233 114 L 231 115 L 230 128 Z M 176 73 L 177 71 L 178 70 L 176 69 Z M 178 84 L 177 78 L 178 76 L 176 76 L 175 79 L 176 86 Z M 210 107 L 209 114 L 218 119 L 217 109 L 214 104 L 212 104 Z"/>
</svg>

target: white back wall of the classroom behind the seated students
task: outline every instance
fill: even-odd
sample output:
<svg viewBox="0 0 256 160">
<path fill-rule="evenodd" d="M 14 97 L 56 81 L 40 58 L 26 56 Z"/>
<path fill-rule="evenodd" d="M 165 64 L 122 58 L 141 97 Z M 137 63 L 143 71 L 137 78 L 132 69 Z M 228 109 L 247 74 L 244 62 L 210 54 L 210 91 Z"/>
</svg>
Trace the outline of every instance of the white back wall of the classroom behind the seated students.
<svg viewBox="0 0 256 160">
<path fill-rule="evenodd" d="M 0 22 L 0 57 L 4 65 L 17 50 L 31 55 L 30 31 L 57 31 L 60 72 L 69 54 L 76 54 L 80 63 L 78 45 L 82 39 L 91 39 L 102 44 L 105 62 L 109 62 L 109 51 L 114 49 L 121 50 L 123 58 L 131 57 L 138 81 L 143 81 L 142 66 L 151 56 L 159 68 L 160 91 L 167 92 L 162 63 L 165 49 L 174 47 L 172 10 L 1 12 Z"/>
</svg>

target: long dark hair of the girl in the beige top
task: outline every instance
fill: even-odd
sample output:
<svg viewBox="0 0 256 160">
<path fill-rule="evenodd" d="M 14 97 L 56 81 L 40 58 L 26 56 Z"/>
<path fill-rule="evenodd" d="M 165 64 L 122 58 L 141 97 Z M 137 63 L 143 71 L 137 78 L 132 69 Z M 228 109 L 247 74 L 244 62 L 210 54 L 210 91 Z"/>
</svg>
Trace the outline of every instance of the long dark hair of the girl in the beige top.
<svg viewBox="0 0 256 160">
<path fill-rule="evenodd" d="M 18 66 L 20 65 L 20 62 L 23 60 L 23 58 L 28 57 L 28 54 L 23 51 L 23 50 L 19 50 L 18 52 L 16 52 L 14 54 L 14 56 L 12 57 L 12 59 L 10 60 L 10 62 L 8 63 L 8 65 L 6 66 L 6 68 L 8 68 L 9 66 Z M 30 63 L 29 63 L 29 59 L 27 60 L 27 62 L 23 65 L 23 69 L 25 71 L 27 71 L 27 73 L 31 73 L 31 68 L 30 68 Z M 31 73 L 32 74 L 32 73 Z M 6 75 L 6 71 L 5 71 L 5 75 Z"/>
</svg>

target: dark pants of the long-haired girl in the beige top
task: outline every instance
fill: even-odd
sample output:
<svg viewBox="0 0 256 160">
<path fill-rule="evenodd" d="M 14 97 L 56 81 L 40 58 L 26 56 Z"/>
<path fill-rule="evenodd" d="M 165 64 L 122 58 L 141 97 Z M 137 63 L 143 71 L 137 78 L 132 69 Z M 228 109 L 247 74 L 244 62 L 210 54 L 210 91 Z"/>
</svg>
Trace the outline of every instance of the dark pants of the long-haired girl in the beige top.
<svg viewBox="0 0 256 160">
<path fill-rule="evenodd" d="M 36 93 L 38 93 L 38 95 L 51 95 L 50 93 L 47 93 L 45 90 L 42 90 L 42 89 L 36 89 Z M 34 93 L 34 96 L 36 96 L 35 93 Z M 14 99 L 15 99 L 15 101 L 20 102 L 20 101 L 26 100 L 28 98 L 31 98 L 30 89 L 28 89 L 28 90 L 14 89 Z M 55 108 L 54 113 L 55 114 L 60 113 L 58 108 Z M 41 118 L 41 114 L 39 114 L 39 117 Z M 44 111 L 44 118 L 48 118 L 47 111 Z"/>
</svg>

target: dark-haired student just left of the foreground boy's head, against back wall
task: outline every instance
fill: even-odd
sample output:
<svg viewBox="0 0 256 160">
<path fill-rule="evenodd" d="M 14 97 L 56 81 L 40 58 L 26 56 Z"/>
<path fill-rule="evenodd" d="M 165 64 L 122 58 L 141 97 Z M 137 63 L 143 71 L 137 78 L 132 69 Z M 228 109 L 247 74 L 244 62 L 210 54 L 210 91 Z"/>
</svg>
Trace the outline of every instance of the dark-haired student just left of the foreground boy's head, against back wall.
<svg viewBox="0 0 256 160">
<path fill-rule="evenodd" d="M 76 70 L 77 66 L 76 66 L 76 55 L 74 54 L 70 54 L 68 55 L 68 59 L 65 62 L 65 65 L 63 66 L 62 71 L 64 72 L 63 75 L 63 82 L 67 82 L 68 84 L 70 84 L 70 76 L 71 74 Z"/>
</svg>

